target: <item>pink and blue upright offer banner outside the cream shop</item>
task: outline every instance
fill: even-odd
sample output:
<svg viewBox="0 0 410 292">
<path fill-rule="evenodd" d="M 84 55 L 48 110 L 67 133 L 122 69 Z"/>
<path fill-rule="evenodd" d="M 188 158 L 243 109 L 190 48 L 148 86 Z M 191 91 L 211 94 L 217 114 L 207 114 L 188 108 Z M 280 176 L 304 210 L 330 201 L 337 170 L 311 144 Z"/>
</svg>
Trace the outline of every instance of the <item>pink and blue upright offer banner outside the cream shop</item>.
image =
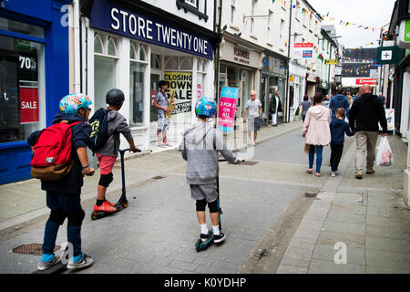
<svg viewBox="0 0 410 292">
<path fill-rule="evenodd" d="M 218 126 L 219 129 L 222 131 L 233 131 L 238 94 L 238 88 L 223 87 L 220 92 L 220 110 L 218 113 Z"/>
</svg>

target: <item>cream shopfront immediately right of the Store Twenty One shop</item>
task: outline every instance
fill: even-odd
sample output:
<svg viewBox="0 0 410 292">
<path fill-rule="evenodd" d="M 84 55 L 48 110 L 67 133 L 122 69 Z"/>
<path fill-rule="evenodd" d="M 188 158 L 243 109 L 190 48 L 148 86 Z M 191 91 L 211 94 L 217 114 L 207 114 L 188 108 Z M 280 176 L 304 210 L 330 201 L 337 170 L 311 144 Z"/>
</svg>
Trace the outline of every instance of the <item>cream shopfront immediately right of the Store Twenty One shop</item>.
<svg viewBox="0 0 410 292">
<path fill-rule="evenodd" d="M 241 121 L 243 117 L 246 101 L 251 99 L 251 90 L 260 92 L 261 56 L 260 47 L 243 40 L 240 42 L 239 37 L 224 33 L 220 44 L 219 89 L 224 86 L 239 89 L 235 112 L 237 120 Z"/>
</svg>

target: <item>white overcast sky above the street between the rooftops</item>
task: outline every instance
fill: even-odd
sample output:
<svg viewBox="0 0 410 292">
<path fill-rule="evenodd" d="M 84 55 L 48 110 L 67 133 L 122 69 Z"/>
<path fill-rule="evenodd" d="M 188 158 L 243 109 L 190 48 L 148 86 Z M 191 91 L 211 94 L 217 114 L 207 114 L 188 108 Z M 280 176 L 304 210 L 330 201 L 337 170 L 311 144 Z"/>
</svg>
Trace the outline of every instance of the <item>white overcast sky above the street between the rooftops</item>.
<svg viewBox="0 0 410 292">
<path fill-rule="evenodd" d="M 336 18 L 329 22 L 329 17 L 323 21 L 323 25 L 333 24 L 336 28 L 338 42 L 345 48 L 351 47 L 378 47 L 377 40 L 380 36 L 380 28 L 390 22 L 395 0 L 308 0 L 314 10 L 324 16 Z M 356 26 L 339 26 L 340 21 L 354 23 Z M 364 30 L 358 26 L 372 26 L 371 30 Z M 367 45 L 371 42 L 374 46 Z"/>
</svg>

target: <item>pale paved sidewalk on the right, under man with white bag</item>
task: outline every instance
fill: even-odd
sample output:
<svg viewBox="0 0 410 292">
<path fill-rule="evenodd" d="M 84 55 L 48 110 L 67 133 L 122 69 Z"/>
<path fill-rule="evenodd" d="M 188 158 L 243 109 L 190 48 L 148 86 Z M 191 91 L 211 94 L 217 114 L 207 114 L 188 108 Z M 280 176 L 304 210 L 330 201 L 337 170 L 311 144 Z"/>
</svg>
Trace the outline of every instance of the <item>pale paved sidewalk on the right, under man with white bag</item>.
<svg viewBox="0 0 410 292">
<path fill-rule="evenodd" d="M 374 174 L 355 179 L 354 142 L 338 175 L 327 179 L 289 236 L 284 255 L 274 243 L 278 234 L 268 230 L 268 240 L 255 247 L 240 273 L 410 273 L 410 209 L 403 200 L 407 146 L 398 137 L 388 139 L 394 166 L 376 166 Z M 275 256 L 279 266 L 272 265 Z"/>
</svg>

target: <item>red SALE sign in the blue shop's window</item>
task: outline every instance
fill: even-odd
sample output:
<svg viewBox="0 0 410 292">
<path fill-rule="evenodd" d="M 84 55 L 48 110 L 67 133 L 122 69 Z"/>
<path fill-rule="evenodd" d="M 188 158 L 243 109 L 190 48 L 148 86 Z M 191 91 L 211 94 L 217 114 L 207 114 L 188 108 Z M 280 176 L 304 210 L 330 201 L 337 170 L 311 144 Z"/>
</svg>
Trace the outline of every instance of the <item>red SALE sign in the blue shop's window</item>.
<svg viewBox="0 0 410 292">
<path fill-rule="evenodd" d="M 20 87 L 20 123 L 38 122 L 38 88 Z"/>
</svg>

